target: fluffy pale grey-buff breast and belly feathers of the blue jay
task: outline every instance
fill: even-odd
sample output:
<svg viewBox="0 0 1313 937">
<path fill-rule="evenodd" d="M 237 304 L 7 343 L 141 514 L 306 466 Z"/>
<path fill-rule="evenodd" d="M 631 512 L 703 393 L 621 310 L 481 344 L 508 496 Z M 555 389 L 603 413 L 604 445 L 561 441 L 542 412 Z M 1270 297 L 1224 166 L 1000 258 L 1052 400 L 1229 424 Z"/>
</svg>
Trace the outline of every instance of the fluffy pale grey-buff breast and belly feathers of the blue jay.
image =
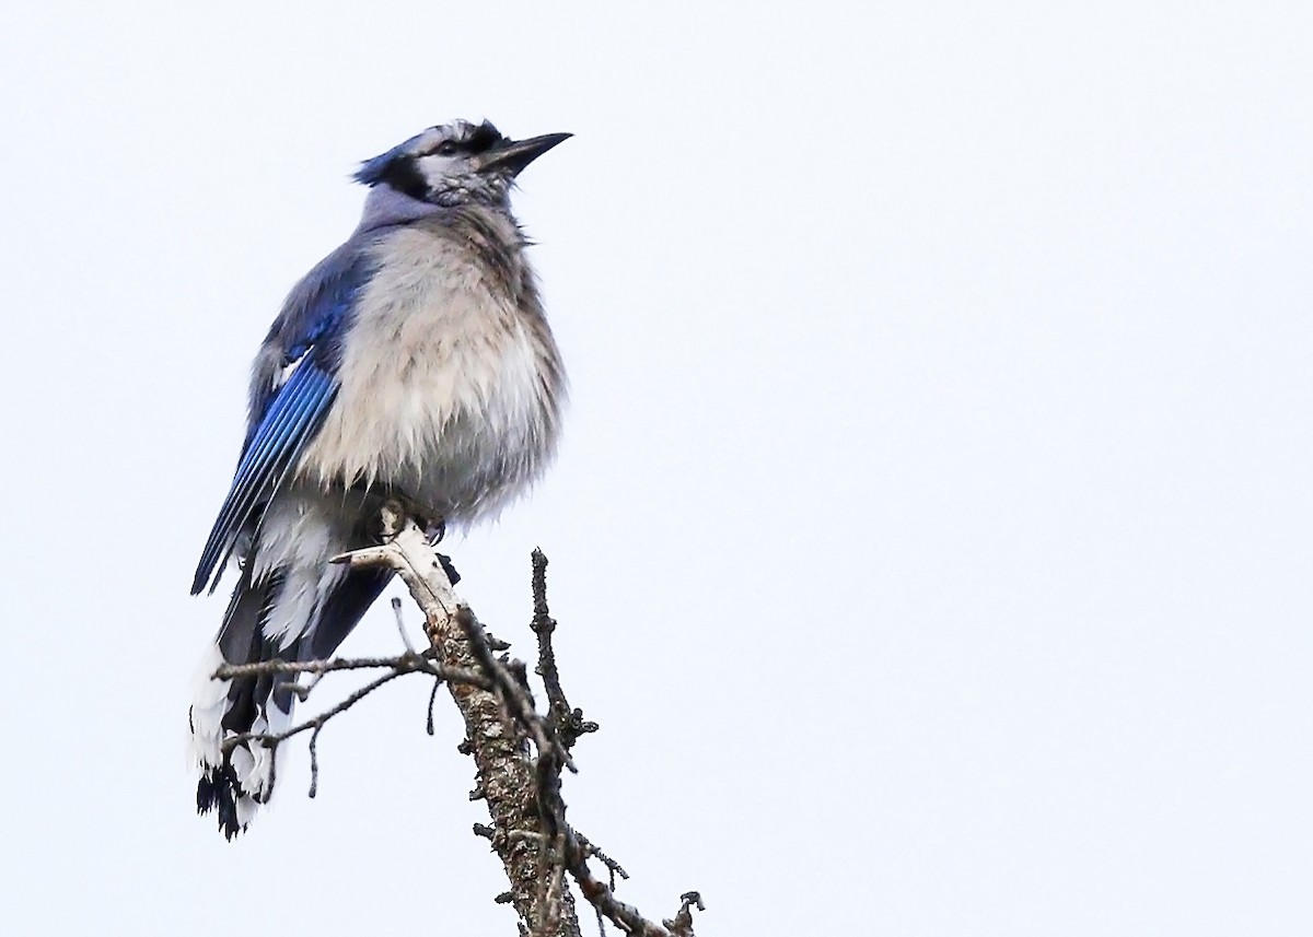
<svg viewBox="0 0 1313 937">
<path fill-rule="evenodd" d="M 340 390 L 298 476 L 394 487 L 458 525 L 495 513 L 550 459 L 565 396 L 519 231 L 458 214 L 373 249 Z"/>
</svg>

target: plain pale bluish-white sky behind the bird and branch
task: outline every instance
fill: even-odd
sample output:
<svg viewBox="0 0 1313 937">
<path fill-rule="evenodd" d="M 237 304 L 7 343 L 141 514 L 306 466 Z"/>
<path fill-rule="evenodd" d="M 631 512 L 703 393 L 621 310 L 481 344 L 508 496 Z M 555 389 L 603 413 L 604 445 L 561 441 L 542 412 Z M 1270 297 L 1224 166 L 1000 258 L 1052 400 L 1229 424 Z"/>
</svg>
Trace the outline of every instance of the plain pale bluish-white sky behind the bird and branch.
<svg viewBox="0 0 1313 937">
<path fill-rule="evenodd" d="M 463 115 L 576 134 L 516 199 L 565 448 L 449 547 L 520 654 L 551 559 L 624 899 L 1313 933 L 1310 49 L 1304 3 L 8 4 L 0 930 L 515 933 L 425 682 L 235 844 L 184 760 L 249 357 L 356 163 Z"/>
</svg>

